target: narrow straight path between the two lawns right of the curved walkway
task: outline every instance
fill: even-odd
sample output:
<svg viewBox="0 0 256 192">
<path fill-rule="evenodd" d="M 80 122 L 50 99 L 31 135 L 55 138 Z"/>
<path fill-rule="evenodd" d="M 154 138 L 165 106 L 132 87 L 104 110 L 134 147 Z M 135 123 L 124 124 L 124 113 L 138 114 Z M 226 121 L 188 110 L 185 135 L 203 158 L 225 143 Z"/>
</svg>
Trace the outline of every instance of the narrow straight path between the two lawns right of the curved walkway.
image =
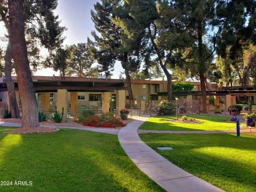
<svg viewBox="0 0 256 192">
<path fill-rule="evenodd" d="M 241 133 L 256 132 L 256 129 L 241 130 Z M 162 131 L 162 130 L 138 130 L 138 133 L 172 133 L 172 134 L 209 134 L 209 133 L 236 133 L 235 130 L 223 130 L 223 131 Z"/>
</svg>

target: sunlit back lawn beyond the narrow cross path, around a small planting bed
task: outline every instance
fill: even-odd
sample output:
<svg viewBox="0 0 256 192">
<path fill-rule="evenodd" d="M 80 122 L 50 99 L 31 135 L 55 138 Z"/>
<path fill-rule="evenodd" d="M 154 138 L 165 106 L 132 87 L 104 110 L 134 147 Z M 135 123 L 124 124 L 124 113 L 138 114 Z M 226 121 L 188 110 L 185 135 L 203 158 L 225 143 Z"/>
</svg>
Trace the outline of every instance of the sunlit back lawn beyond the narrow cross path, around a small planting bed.
<svg viewBox="0 0 256 192">
<path fill-rule="evenodd" d="M 179 116 L 180 118 L 181 116 Z M 230 122 L 231 117 L 217 115 L 187 115 L 196 118 L 203 123 L 176 123 L 169 121 L 176 116 L 152 116 L 143 123 L 141 130 L 173 130 L 173 131 L 195 131 L 195 130 L 233 130 L 236 127 L 234 122 Z M 242 124 L 243 125 L 243 124 Z"/>
</svg>

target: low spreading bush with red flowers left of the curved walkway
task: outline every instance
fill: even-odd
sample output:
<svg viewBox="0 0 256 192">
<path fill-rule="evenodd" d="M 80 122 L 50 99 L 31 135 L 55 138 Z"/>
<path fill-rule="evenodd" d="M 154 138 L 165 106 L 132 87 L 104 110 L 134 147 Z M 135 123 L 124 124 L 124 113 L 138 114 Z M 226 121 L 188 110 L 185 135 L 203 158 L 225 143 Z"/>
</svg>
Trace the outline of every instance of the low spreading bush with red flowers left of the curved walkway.
<svg viewBox="0 0 256 192">
<path fill-rule="evenodd" d="M 83 125 L 106 128 L 125 126 L 121 119 L 114 117 L 113 113 L 103 113 L 101 115 L 94 115 L 93 118 L 85 119 Z"/>
</svg>

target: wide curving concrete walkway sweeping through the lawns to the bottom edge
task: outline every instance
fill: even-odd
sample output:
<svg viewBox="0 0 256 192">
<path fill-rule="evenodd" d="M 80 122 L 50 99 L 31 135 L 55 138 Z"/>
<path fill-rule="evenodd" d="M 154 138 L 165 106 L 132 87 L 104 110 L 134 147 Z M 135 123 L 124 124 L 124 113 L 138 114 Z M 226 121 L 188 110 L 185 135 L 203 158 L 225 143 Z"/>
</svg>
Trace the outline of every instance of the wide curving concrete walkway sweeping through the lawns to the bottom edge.
<svg viewBox="0 0 256 192">
<path fill-rule="evenodd" d="M 147 119 L 148 117 L 134 117 L 134 121 L 117 134 L 125 153 L 142 172 L 166 191 L 223 191 L 180 169 L 141 141 L 137 130 Z"/>
</svg>

